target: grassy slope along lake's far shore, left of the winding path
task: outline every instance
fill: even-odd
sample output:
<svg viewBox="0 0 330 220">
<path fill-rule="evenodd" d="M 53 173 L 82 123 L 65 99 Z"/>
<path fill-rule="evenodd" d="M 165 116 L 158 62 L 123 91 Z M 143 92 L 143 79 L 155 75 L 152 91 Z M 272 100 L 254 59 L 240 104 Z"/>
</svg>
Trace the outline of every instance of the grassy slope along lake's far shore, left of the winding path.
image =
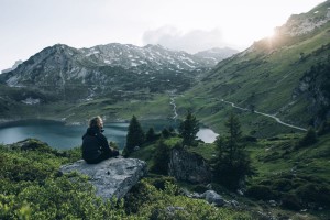
<svg viewBox="0 0 330 220">
<path fill-rule="evenodd" d="M 106 116 L 109 121 L 129 120 L 133 114 L 140 119 L 166 119 L 172 117 L 168 95 L 153 94 L 147 98 L 134 95 L 135 98 L 113 100 L 102 97 L 95 100 L 63 101 L 54 94 L 43 94 L 33 89 L 11 88 L 0 85 L 0 119 L 53 119 L 65 118 L 67 122 L 82 122 L 92 116 Z M 25 95 L 26 94 L 26 95 Z M 38 105 L 25 105 L 22 100 L 29 97 L 48 100 Z"/>
</svg>

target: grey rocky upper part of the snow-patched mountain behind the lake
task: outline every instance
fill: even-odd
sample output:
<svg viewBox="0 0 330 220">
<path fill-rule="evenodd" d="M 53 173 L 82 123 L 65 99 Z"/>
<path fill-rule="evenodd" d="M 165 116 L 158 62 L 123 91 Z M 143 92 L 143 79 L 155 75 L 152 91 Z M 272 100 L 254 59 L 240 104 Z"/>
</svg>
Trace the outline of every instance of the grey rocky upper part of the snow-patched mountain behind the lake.
<svg viewBox="0 0 330 220">
<path fill-rule="evenodd" d="M 57 44 L 46 47 L 16 69 L 1 75 L 9 86 L 107 87 L 111 90 L 179 90 L 216 63 L 161 45 L 139 47 L 107 44 L 74 48 Z"/>
</svg>

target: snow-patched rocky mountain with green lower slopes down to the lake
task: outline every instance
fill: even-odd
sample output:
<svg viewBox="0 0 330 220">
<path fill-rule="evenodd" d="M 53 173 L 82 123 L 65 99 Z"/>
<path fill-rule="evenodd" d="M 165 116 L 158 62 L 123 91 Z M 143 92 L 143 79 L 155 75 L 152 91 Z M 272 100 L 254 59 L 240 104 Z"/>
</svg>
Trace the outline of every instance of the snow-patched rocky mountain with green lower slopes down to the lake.
<svg viewBox="0 0 330 220">
<path fill-rule="evenodd" d="M 136 111 L 148 118 L 167 118 L 168 94 L 191 88 L 232 53 L 217 50 L 204 57 L 161 45 L 112 43 L 74 48 L 56 44 L 0 75 L 0 119 L 76 122 L 103 114 L 122 120 Z"/>
</svg>

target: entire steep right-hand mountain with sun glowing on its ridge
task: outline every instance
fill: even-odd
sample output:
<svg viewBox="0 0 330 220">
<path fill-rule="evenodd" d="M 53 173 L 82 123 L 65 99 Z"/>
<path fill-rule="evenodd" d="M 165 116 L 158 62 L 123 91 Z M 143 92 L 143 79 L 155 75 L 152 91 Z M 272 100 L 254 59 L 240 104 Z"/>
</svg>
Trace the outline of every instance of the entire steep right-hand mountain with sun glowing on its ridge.
<svg viewBox="0 0 330 220">
<path fill-rule="evenodd" d="M 204 123 L 221 131 L 221 120 L 234 110 L 245 131 L 258 135 L 300 131 L 277 123 L 275 117 L 304 129 L 320 125 L 330 116 L 329 21 L 329 0 L 292 15 L 273 37 L 255 42 L 208 72 L 177 99 L 178 111 L 194 109 Z"/>
</svg>

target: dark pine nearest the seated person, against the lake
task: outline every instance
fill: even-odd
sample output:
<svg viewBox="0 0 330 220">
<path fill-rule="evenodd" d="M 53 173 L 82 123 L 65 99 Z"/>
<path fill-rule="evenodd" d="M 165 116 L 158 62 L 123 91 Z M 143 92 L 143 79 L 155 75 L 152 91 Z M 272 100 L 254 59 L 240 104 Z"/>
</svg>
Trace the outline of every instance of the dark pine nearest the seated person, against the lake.
<svg viewBox="0 0 330 220">
<path fill-rule="evenodd" d="M 144 131 L 141 128 L 140 122 L 138 121 L 136 117 L 133 116 L 130 125 L 129 131 L 127 135 L 127 146 L 124 152 L 127 154 L 130 154 L 134 151 L 135 146 L 141 146 L 145 141 L 145 134 Z"/>
</svg>

